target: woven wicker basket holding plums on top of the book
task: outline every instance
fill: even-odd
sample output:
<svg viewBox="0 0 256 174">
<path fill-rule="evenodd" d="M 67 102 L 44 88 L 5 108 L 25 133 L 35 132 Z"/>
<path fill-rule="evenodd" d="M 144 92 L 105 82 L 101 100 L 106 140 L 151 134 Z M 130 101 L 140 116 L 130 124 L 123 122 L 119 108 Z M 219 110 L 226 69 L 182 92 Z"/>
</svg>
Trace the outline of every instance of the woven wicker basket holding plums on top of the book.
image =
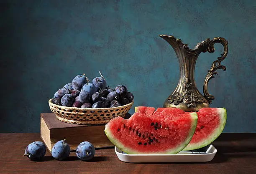
<svg viewBox="0 0 256 174">
<path fill-rule="evenodd" d="M 52 98 L 49 100 L 49 106 L 56 118 L 72 124 L 106 124 L 117 116 L 124 117 L 133 106 L 132 101 L 127 105 L 113 108 L 75 108 L 59 106 L 51 103 L 51 100 Z"/>
</svg>

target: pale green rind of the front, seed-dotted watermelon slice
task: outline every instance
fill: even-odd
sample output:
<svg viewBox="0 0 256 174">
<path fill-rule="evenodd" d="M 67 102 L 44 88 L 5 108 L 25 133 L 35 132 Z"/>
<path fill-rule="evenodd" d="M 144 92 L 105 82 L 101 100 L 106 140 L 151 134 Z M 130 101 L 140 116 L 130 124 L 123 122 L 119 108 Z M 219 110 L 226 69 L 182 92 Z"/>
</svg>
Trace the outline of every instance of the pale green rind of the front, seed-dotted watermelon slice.
<svg viewBox="0 0 256 174">
<path fill-rule="evenodd" d="M 125 147 L 118 139 L 116 139 L 113 136 L 113 134 L 111 134 L 111 130 L 107 125 L 105 126 L 104 131 L 108 139 L 112 142 L 112 144 L 114 144 L 116 147 L 118 147 L 118 149 L 125 152 L 126 154 L 177 154 L 179 151 L 182 151 L 182 149 L 184 149 L 184 147 L 186 147 L 189 144 L 197 127 L 197 113 L 193 112 L 189 114 L 191 116 L 191 128 L 189 130 L 187 139 L 185 139 L 183 143 L 179 144 L 179 146 L 172 149 L 168 149 L 167 151 L 154 152 L 154 153 L 142 153 L 134 149 L 131 149 L 129 147 Z"/>
</svg>

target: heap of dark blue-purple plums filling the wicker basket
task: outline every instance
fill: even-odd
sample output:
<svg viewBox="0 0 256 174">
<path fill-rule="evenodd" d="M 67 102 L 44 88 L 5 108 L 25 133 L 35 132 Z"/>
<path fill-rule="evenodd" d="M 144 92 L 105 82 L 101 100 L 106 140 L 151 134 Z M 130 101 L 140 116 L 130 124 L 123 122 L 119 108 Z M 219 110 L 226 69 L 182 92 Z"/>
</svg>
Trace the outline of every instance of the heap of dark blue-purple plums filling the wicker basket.
<svg viewBox="0 0 256 174">
<path fill-rule="evenodd" d="M 100 73 L 100 77 L 95 77 L 92 83 L 89 83 L 84 74 L 77 75 L 72 83 L 67 83 L 54 93 L 51 102 L 77 108 L 112 108 L 132 101 L 133 93 L 128 92 L 123 85 L 118 85 L 114 89 L 107 87 L 106 80 Z"/>
</svg>

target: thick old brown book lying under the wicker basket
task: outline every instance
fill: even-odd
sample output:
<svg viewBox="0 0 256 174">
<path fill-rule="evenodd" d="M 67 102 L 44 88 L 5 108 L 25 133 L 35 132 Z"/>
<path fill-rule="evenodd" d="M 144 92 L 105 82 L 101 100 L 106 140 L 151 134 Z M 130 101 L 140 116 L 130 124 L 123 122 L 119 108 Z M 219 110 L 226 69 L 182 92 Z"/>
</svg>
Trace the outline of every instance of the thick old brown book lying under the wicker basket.
<svg viewBox="0 0 256 174">
<path fill-rule="evenodd" d="M 50 152 L 54 144 L 63 139 L 67 140 L 71 151 L 76 150 L 77 146 L 83 141 L 91 142 L 95 148 L 114 146 L 104 132 L 105 124 L 80 125 L 64 123 L 57 120 L 54 113 L 41 113 L 40 122 L 40 136 Z"/>
</svg>

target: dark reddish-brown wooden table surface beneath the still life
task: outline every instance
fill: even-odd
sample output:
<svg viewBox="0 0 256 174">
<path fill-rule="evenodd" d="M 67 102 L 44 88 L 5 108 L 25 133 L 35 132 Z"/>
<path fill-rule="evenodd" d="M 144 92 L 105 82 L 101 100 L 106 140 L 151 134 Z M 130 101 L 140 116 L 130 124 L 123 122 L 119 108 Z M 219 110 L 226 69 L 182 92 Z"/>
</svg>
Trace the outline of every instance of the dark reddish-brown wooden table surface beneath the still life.
<svg viewBox="0 0 256 174">
<path fill-rule="evenodd" d="M 57 161 L 47 151 L 43 161 L 23 156 L 28 144 L 41 141 L 39 134 L 0 134 L 0 173 L 185 173 L 255 174 L 256 133 L 223 133 L 212 144 L 218 150 L 205 163 L 131 164 L 119 161 L 113 148 L 97 149 L 91 161 L 81 161 L 71 152 L 67 161 Z"/>
</svg>

